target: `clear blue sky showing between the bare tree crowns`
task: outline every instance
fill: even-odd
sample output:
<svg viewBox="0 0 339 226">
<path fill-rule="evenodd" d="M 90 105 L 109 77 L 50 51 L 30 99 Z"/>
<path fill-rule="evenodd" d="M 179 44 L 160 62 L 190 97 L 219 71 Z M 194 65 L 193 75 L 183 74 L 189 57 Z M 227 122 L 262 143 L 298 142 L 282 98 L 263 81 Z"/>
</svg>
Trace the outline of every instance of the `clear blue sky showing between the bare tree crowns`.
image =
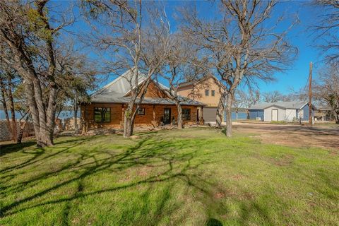
<svg viewBox="0 0 339 226">
<path fill-rule="evenodd" d="M 176 30 L 176 21 L 175 16 L 180 16 L 177 13 L 176 8 L 184 6 L 185 4 L 196 4 L 196 8 L 199 11 L 199 15 L 203 18 L 213 18 L 215 15 L 218 15 L 217 3 L 210 4 L 206 1 L 163 1 L 165 5 L 165 11 L 169 17 L 172 31 Z M 63 2 L 67 4 L 67 1 Z M 268 92 L 272 90 L 279 90 L 281 93 L 290 93 L 291 89 L 299 90 L 304 88 L 307 83 L 307 78 L 309 76 L 309 62 L 314 62 L 314 77 L 316 77 L 316 70 L 323 65 L 321 61 L 322 57 L 319 49 L 314 45 L 314 36 L 311 35 L 311 32 L 307 31 L 311 25 L 314 25 L 319 10 L 309 6 L 309 1 L 280 1 L 280 4 L 275 6 L 273 11 L 273 18 L 284 14 L 287 20 L 284 20 L 281 23 L 281 28 L 287 28 L 292 23 L 292 18 L 295 18 L 297 15 L 300 23 L 295 25 L 294 28 L 289 33 L 290 43 L 299 49 L 299 54 L 293 64 L 289 66 L 284 73 L 275 73 L 275 82 L 264 83 L 258 82 L 258 88 L 263 92 Z M 74 31 L 86 32 L 88 26 L 80 19 L 76 24 L 71 28 Z M 89 50 L 86 50 L 89 51 Z M 95 54 L 88 52 L 89 56 L 95 56 Z M 102 82 L 102 85 L 105 85 L 112 81 L 114 77 L 109 77 L 107 80 Z M 164 81 L 161 81 L 165 83 Z M 165 85 L 167 85 L 165 83 Z"/>
</svg>

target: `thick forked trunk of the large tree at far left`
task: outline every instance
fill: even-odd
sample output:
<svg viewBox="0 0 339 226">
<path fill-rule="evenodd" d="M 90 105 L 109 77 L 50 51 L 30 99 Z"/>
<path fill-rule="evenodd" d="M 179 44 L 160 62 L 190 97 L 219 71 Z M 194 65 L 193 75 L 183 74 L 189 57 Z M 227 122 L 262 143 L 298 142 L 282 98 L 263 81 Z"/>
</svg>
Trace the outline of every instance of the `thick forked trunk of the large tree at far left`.
<svg viewBox="0 0 339 226">
<path fill-rule="evenodd" d="M 44 3 L 45 1 L 42 1 L 40 4 L 43 5 Z M 43 12 L 44 11 L 39 12 L 41 18 L 44 18 Z M 47 29 L 49 29 L 49 27 Z M 57 85 L 54 81 L 49 83 L 49 100 L 48 103 L 44 102 L 44 93 L 42 93 L 41 83 L 31 57 L 25 52 L 25 44 L 23 44 L 23 42 L 17 44 L 17 42 L 13 42 L 13 40 L 6 35 L 5 37 L 8 46 L 13 51 L 13 60 L 15 61 L 14 67 L 25 81 L 25 95 L 27 96 L 28 105 L 32 114 L 37 146 L 44 147 L 53 145 L 54 119 L 58 93 Z M 18 35 L 16 35 L 16 37 L 18 37 Z M 20 38 L 21 37 L 18 37 L 19 40 Z M 50 40 L 47 40 L 47 51 L 49 53 L 48 76 L 49 78 L 54 78 L 56 65 L 52 42 Z"/>
</svg>

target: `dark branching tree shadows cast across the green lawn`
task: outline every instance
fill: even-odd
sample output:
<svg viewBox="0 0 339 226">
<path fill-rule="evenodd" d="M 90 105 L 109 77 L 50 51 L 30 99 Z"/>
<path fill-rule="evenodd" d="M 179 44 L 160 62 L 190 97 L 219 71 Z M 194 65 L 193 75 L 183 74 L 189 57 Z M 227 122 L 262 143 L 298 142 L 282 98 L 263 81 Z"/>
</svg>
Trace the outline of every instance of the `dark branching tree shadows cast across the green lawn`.
<svg viewBox="0 0 339 226">
<path fill-rule="evenodd" d="M 180 142 L 174 142 L 168 138 L 159 139 L 158 137 L 145 136 L 141 140 L 137 140 L 135 145 L 124 148 L 124 150 L 119 150 L 119 152 L 107 149 L 96 150 L 95 148 L 91 149 L 90 152 L 85 150 L 76 152 L 74 159 L 61 162 L 57 169 L 36 174 L 30 179 L 23 179 L 16 184 L 4 187 L 4 195 L 13 193 L 20 194 L 28 188 L 38 186 L 44 182 L 45 179 L 51 179 L 50 181 L 52 181 L 48 187 L 44 187 L 43 189 L 37 188 L 33 194 L 23 196 L 21 199 L 13 199 L 11 203 L 2 206 L 1 215 L 8 217 L 25 210 L 31 210 L 32 208 L 64 203 L 64 209 L 60 217 L 61 222 L 63 225 L 71 225 L 71 222 L 69 222 L 70 211 L 72 206 L 75 205 L 74 203 L 78 203 L 79 200 L 101 194 L 136 189 L 140 185 L 147 185 L 147 189 L 140 191 L 141 194 L 138 195 L 142 200 L 142 205 L 138 208 L 133 208 L 134 212 L 132 215 L 128 214 L 132 211 L 131 207 L 124 205 L 119 206 L 119 208 L 124 208 L 123 212 L 125 214 L 122 215 L 128 215 L 129 217 L 119 219 L 118 223 L 120 225 L 133 225 L 133 223 L 138 221 L 140 223 L 142 218 L 144 222 L 149 222 L 149 225 L 157 225 L 159 222 L 162 222 L 165 216 L 168 217 L 174 215 L 174 213 L 177 215 L 177 213 L 182 212 L 180 208 L 182 208 L 184 203 L 178 203 L 180 201 L 167 205 L 171 198 L 173 198 L 172 194 L 176 193 L 174 190 L 175 184 L 180 182 L 186 185 L 187 192 L 191 191 L 191 189 L 198 191 L 199 195 L 195 198 L 199 198 L 198 201 L 203 203 L 206 208 L 204 211 L 208 216 L 225 216 L 227 215 L 227 207 L 222 205 L 222 199 L 215 198 L 215 194 L 213 194 L 218 182 L 204 177 L 201 174 L 201 169 L 199 169 L 201 165 L 215 164 L 217 160 L 213 157 L 208 157 L 208 155 L 216 155 L 220 150 L 211 150 L 210 152 L 198 154 L 198 152 L 202 150 L 201 148 L 203 148 L 203 142 L 206 141 L 183 139 L 180 140 Z M 35 160 L 32 160 L 32 162 L 28 164 L 21 165 L 19 168 L 14 167 L 13 171 L 23 167 L 32 167 L 32 164 L 40 164 L 41 161 L 48 162 L 53 159 L 54 162 L 56 162 L 59 154 L 62 155 L 69 150 L 69 148 L 80 144 L 86 143 L 85 141 L 79 141 L 51 155 L 44 153 L 41 157 L 35 158 Z M 203 158 L 201 155 L 203 155 Z M 138 175 L 136 178 L 127 179 L 114 186 L 104 186 L 100 189 L 93 190 L 86 189 L 85 187 L 85 179 L 91 178 L 91 183 L 95 183 L 96 180 L 101 179 L 100 177 L 104 177 L 102 173 L 105 173 L 105 175 L 119 175 L 121 172 L 128 177 L 129 170 L 135 170 L 138 167 L 149 167 L 150 169 L 155 169 L 155 172 L 145 174 L 142 177 Z M 72 173 L 71 176 L 63 177 L 62 179 L 58 178 L 69 172 Z M 55 179 L 55 182 L 53 182 L 52 179 Z M 67 196 L 55 195 L 58 189 L 70 186 L 70 184 L 74 182 L 76 183 L 76 188 L 74 191 L 69 190 L 71 194 Z M 160 186 L 160 184 L 163 183 L 167 184 L 165 188 L 160 191 L 160 194 L 157 194 L 158 200 L 156 206 L 150 206 L 150 200 L 154 198 L 154 186 Z M 227 191 L 220 192 L 226 193 Z M 50 196 L 51 194 L 53 194 L 53 196 Z M 227 195 L 225 196 L 227 197 Z M 35 200 L 37 198 L 39 198 L 39 201 Z M 239 214 L 239 218 L 241 218 L 239 219 L 240 222 L 248 223 L 251 211 L 256 211 L 256 213 L 262 212 L 263 218 L 267 219 L 266 222 L 270 222 L 267 213 L 263 210 L 261 211 L 260 206 L 251 205 L 249 201 L 245 201 L 244 203 L 248 205 L 243 206 L 242 213 Z M 240 201 L 239 204 L 241 204 Z M 179 219 L 171 220 L 171 223 L 175 221 L 174 225 L 180 225 L 182 221 L 185 220 L 184 214 L 180 213 L 180 215 L 181 218 L 179 216 Z M 221 224 L 219 220 L 209 218 L 206 225 Z"/>
</svg>

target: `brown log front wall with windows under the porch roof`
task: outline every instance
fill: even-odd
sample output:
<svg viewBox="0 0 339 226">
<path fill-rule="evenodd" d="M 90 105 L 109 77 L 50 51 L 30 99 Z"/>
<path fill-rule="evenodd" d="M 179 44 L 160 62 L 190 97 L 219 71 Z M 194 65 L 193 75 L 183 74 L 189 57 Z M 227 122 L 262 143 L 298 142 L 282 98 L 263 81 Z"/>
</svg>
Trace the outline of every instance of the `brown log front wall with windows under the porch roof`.
<svg viewBox="0 0 339 226">
<path fill-rule="evenodd" d="M 123 129 L 126 103 L 90 103 L 81 105 L 81 122 L 88 129 Z M 182 105 L 184 124 L 198 124 L 203 121 L 200 114 L 202 106 Z M 175 105 L 141 105 L 136 113 L 134 126 L 157 127 L 166 124 L 177 124 L 178 111 Z"/>
</svg>

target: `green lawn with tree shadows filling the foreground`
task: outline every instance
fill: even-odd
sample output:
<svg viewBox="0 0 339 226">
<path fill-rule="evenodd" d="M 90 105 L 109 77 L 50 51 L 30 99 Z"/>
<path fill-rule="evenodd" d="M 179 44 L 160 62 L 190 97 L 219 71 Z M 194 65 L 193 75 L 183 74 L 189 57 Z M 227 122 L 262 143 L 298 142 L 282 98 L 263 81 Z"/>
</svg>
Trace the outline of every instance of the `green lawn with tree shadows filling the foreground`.
<svg viewBox="0 0 339 226">
<path fill-rule="evenodd" d="M 0 225 L 339 225 L 339 155 L 215 129 L 1 147 Z"/>
</svg>

